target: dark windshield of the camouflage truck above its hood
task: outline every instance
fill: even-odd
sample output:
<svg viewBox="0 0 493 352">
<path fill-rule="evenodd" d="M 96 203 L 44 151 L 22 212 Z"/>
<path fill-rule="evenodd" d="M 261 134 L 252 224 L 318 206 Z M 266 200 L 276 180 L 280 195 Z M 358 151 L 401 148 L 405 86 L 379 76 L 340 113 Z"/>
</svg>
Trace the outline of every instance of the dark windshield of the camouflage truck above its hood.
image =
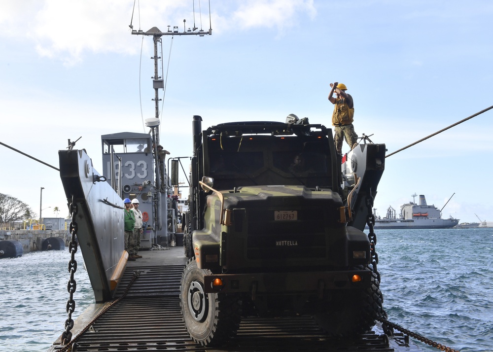
<svg viewBox="0 0 493 352">
<path fill-rule="evenodd" d="M 216 189 L 252 185 L 332 186 L 326 136 L 212 136 L 207 144 L 204 173 L 214 178 Z"/>
</svg>

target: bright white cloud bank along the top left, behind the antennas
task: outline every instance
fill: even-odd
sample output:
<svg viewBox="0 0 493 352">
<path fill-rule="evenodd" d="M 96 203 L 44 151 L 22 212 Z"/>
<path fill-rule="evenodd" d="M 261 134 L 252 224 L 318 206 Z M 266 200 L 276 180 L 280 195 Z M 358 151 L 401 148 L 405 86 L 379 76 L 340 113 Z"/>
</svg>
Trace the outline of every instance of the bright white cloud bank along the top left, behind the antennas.
<svg viewBox="0 0 493 352">
<path fill-rule="evenodd" d="M 313 0 L 234 1 L 211 5 L 215 34 L 228 28 L 278 28 L 292 26 L 299 13 L 314 17 Z M 237 10 L 235 10 L 238 8 Z M 194 13 L 195 10 L 195 13 Z M 220 12 L 218 12 L 220 11 Z M 133 17 L 132 17 L 133 13 Z M 135 54 L 138 41 L 130 35 L 134 30 L 147 31 L 158 27 L 162 32 L 170 24 L 178 31 L 186 27 L 209 29 L 209 6 L 190 1 L 132 0 L 44 0 L 7 2 L 0 13 L 0 24 L 7 28 L 0 36 L 34 42 L 40 56 L 56 58 L 66 65 L 80 62 L 85 53 L 116 52 Z M 126 31 L 125 31 L 126 30 Z"/>
</svg>

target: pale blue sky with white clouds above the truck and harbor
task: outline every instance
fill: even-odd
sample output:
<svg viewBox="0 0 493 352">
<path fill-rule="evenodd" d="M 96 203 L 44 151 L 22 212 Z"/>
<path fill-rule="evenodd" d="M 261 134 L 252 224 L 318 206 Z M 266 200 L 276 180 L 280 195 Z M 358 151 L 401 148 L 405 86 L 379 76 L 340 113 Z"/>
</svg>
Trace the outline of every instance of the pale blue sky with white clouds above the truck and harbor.
<svg viewBox="0 0 493 352">
<path fill-rule="evenodd" d="M 192 154 L 193 115 L 204 129 L 290 113 L 330 126 L 335 81 L 353 97 L 358 136 L 390 154 L 493 105 L 492 18 L 490 0 L 210 0 L 210 11 L 198 0 L 6 1 L 0 141 L 58 168 L 58 150 L 80 138 L 75 148 L 102 173 L 101 135 L 146 133 L 155 114 L 152 37 L 129 25 L 195 23 L 212 35 L 163 36 L 161 144 L 171 156 Z M 454 194 L 443 217 L 493 221 L 492 118 L 386 158 L 377 215 L 415 193 L 442 209 Z M 44 187 L 43 217 L 68 215 L 56 170 L 2 145 L 0 156 L 0 193 L 39 215 Z"/>
</svg>

